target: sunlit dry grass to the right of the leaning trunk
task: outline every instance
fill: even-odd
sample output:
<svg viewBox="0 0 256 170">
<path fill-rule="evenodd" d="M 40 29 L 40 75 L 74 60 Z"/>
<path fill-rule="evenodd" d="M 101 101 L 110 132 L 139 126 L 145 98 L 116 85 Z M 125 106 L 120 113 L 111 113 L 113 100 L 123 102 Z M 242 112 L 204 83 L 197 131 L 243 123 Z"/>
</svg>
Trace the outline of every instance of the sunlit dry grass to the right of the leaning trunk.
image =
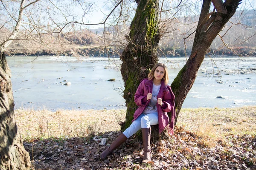
<svg viewBox="0 0 256 170">
<path fill-rule="evenodd" d="M 228 142 L 227 136 L 256 134 L 256 106 L 241 108 L 182 109 L 177 126 L 203 137 L 209 147 L 217 141 Z"/>
</svg>

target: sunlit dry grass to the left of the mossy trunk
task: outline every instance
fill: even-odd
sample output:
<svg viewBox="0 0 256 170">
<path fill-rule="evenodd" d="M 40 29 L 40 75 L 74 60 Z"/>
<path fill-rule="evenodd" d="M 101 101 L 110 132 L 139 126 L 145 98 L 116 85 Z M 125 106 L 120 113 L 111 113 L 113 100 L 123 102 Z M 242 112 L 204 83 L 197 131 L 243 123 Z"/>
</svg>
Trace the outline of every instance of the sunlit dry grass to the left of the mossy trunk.
<svg viewBox="0 0 256 170">
<path fill-rule="evenodd" d="M 91 133 L 116 131 L 120 130 L 117 117 L 124 121 L 124 111 L 59 110 L 51 112 L 21 109 L 15 111 L 16 123 L 24 140 L 49 137 L 85 137 Z"/>
</svg>

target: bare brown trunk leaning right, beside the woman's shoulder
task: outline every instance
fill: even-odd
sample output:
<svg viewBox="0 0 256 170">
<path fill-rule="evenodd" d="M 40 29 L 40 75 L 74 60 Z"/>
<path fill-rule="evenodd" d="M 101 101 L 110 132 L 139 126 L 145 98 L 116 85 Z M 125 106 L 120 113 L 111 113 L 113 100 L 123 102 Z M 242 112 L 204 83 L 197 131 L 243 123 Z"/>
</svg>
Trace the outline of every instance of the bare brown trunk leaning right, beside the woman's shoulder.
<svg viewBox="0 0 256 170">
<path fill-rule="evenodd" d="M 199 67 L 204 60 L 204 56 L 207 53 L 208 48 L 228 20 L 230 20 L 230 18 L 235 14 L 236 8 L 239 6 L 240 1 L 241 0 L 226 1 L 222 5 L 224 6 L 223 8 L 227 9 L 227 13 L 223 10 L 217 10 L 217 12 L 214 12 L 208 19 L 211 0 L 204 0 L 191 55 L 186 62 L 186 65 L 184 65 L 184 67 L 180 70 L 179 74 L 171 85 L 172 91 L 176 96 L 175 124 L 177 122 L 177 117 L 179 115 L 181 106 L 186 98 L 186 95 L 189 93 L 192 85 L 195 82 Z"/>
</svg>

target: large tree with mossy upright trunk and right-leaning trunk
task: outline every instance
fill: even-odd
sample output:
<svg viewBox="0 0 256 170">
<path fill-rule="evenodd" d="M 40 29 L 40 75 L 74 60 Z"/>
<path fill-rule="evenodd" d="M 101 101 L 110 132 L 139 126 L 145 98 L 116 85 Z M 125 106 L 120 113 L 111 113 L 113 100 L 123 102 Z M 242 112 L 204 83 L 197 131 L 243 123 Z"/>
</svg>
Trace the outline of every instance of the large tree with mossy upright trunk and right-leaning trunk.
<svg viewBox="0 0 256 170">
<path fill-rule="evenodd" d="M 208 48 L 221 29 L 224 28 L 225 24 L 235 14 L 240 1 L 226 0 L 223 3 L 222 0 L 203 0 L 191 55 L 171 85 L 172 91 L 176 96 L 175 124 L 184 99 L 195 82 Z M 134 111 L 137 109 L 133 96 L 140 80 L 147 77 L 149 69 L 158 61 L 157 57 L 155 57 L 155 49 L 160 40 L 158 19 L 156 16 L 154 16 L 155 20 L 149 17 L 151 14 L 157 14 L 157 5 L 148 5 L 152 4 L 152 2 L 154 2 L 153 4 L 158 4 L 159 0 L 139 0 L 137 2 L 136 14 L 131 23 L 129 37 L 127 38 L 129 43 L 120 57 L 123 62 L 121 72 L 125 82 L 124 98 L 127 106 L 123 129 L 131 125 Z M 215 8 L 212 12 L 209 12 L 211 3 Z M 141 20 L 142 18 L 143 20 Z M 150 24 L 153 21 L 155 22 L 154 27 L 149 28 L 154 29 L 153 32 L 148 32 L 151 35 L 149 37 L 146 31 L 151 31 L 148 29 L 148 26 L 151 26 Z M 148 45 L 148 42 L 151 44 Z M 171 117 L 171 113 L 168 114 Z"/>
</svg>

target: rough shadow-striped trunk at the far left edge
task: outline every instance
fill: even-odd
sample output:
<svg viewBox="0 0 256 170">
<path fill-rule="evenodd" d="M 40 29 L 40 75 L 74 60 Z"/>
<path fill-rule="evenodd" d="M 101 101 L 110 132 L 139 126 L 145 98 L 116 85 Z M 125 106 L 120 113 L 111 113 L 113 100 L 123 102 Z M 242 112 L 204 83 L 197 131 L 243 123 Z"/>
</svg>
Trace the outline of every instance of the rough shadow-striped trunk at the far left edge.
<svg viewBox="0 0 256 170">
<path fill-rule="evenodd" d="M 0 51 L 0 170 L 29 170 L 29 153 L 22 144 L 14 115 L 11 71 Z"/>
</svg>

